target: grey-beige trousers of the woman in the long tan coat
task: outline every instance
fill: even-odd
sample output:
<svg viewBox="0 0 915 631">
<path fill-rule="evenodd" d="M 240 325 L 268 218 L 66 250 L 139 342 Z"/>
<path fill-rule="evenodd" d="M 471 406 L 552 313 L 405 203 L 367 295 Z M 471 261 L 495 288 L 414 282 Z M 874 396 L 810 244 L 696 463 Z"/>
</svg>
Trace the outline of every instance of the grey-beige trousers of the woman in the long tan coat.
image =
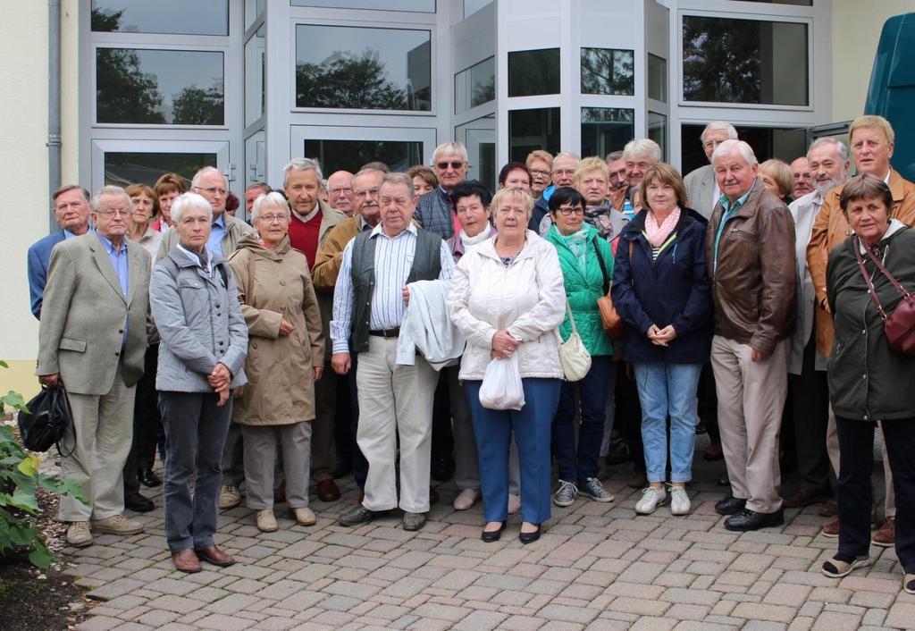
<svg viewBox="0 0 915 631">
<path fill-rule="evenodd" d="M 252 510 L 274 506 L 274 471 L 277 448 L 282 451 L 286 503 L 308 506 L 311 461 L 311 421 L 288 425 L 242 425 L 244 436 L 244 488 Z"/>
</svg>

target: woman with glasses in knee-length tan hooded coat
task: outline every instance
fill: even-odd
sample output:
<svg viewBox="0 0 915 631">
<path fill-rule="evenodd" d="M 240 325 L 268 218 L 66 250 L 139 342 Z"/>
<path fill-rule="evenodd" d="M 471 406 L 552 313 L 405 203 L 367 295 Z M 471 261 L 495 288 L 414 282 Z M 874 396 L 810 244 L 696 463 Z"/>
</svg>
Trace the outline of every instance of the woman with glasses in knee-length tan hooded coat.
<svg viewBox="0 0 915 631">
<path fill-rule="evenodd" d="M 248 507 L 257 511 L 259 530 L 274 532 L 277 449 L 283 452 L 286 503 L 300 526 L 315 523 L 308 472 L 313 381 L 324 370 L 324 336 L 305 255 L 289 245 L 285 198 L 278 192 L 259 196 L 251 217 L 257 234 L 242 237 L 229 261 L 248 324 L 248 385 L 232 419 L 242 426 Z"/>
</svg>

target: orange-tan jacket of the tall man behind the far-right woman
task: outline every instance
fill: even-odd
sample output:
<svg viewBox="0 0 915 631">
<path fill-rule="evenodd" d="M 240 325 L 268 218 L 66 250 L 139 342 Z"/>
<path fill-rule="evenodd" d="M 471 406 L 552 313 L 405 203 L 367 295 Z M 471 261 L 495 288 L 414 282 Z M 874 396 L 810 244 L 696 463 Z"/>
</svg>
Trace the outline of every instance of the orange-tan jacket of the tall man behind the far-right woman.
<svg viewBox="0 0 915 631">
<path fill-rule="evenodd" d="M 826 262 L 836 245 L 845 242 L 852 230 L 839 206 L 843 185 L 826 193 L 823 208 L 813 222 L 810 244 L 807 245 L 807 266 L 816 291 L 816 348 L 829 355 L 833 350 L 833 316 L 820 306 L 826 298 Z M 893 209 L 889 216 L 907 225 L 915 225 L 915 184 L 905 180 L 895 170 L 889 172 L 889 190 L 893 193 Z"/>
</svg>

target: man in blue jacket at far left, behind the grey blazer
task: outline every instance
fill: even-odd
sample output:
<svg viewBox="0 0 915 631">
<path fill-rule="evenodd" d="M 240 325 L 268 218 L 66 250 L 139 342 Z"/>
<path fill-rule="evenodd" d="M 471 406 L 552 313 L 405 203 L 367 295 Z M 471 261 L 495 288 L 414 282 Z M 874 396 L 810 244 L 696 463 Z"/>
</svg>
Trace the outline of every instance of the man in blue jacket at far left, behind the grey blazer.
<svg viewBox="0 0 915 631">
<path fill-rule="evenodd" d="M 61 186 L 51 195 L 54 218 L 60 232 L 38 239 L 28 248 L 28 294 L 32 315 L 41 320 L 41 297 L 48 282 L 48 264 L 51 250 L 61 241 L 86 234 L 89 230 L 89 191 L 76 184 Z"/>
</svg>

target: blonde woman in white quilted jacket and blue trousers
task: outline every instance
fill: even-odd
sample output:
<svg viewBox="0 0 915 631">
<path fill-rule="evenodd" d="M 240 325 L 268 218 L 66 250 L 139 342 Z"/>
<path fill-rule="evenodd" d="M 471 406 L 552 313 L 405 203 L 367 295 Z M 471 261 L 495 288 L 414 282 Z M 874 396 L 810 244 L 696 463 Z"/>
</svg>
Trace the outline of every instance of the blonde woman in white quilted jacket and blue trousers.
<svg viewBox="0 0 915 631">
<path fill-rule="evenodd" d="M 555 248 L 527 230 L 533 199 L 502 189 L 492 199 L 495 238 L 461 257 L 449 296 L 451 319 L 467 336 L 460 379 L 467 391 L 479 456 L 487 524 L 481 538 L 505 528 L 512 430 L 521 462 L 519 539 L 540 538 L 550 517 L 550 428 L 563 376 L 554 329 L 563 321 L 565 291 Z M 479 388 L 490 359 L 518 354 L 524 391 L 520 410 L 483 408 Z"/>
</svg>

